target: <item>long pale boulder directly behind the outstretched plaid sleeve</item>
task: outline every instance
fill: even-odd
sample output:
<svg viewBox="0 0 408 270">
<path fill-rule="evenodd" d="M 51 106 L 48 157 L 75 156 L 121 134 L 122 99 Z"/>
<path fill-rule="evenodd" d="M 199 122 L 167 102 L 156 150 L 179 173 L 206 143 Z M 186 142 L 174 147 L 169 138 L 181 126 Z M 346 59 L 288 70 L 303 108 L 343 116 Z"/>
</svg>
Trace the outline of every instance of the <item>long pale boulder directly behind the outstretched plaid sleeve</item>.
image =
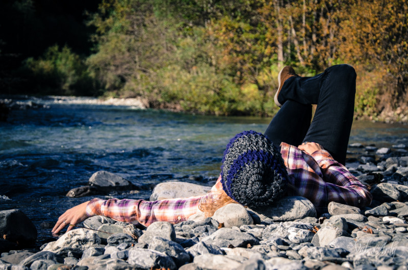
<svg viewBox="0 0 408 270">
<path fill-rule="evenodd" d="M 211 190 L 210 186 L 197 185 L 187 182 L 164 182 L 155 186 L 150 201 L 188 198 L 199 196 L 208 193 Z"/>
</svg>

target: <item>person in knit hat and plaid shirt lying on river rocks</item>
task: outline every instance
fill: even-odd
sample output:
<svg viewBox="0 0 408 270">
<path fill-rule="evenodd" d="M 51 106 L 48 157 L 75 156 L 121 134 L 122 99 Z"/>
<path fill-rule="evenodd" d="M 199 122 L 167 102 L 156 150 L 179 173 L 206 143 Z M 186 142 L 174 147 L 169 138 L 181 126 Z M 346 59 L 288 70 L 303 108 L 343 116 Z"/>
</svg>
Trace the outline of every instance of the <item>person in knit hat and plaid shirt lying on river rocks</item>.
<svg viewBox="0 0 408 270">
<path fill-rule="evenodd" d="M 372 196 L 344 166 L 353 121 L 356 73 L 336 65 L 313 77 L 286 66 L 274 101 L 281 107 L 265 133 L 243 131 L 227 144 L 221 174 L 203 196 L 159 201 L 95 198 L 63 213 L 58 233 L 93 215 L 148 226 L 179 223 L 199 211 L 211 217 L 228 204 L 268 206 L 283 196 L 309 199 L 319 212 L 329 202 L 368 206 Z M 312 119 L 312 104 L 317 104 Z"/>
</svg>

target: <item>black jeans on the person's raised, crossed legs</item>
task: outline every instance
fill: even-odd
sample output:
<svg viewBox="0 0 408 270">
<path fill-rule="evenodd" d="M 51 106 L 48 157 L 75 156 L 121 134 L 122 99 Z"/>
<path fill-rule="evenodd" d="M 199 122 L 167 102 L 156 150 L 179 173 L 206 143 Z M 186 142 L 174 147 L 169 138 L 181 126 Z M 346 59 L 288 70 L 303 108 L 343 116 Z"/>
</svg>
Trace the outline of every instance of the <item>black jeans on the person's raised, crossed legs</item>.
<svg viewBox="0 0 408 270">
<path fill-rule="evenodd" d="M 354 113 L 356 73 L 350 65 L 336 65 L 313 77 L 287 79 L 278 96 L 281 109 L 265 131 L 277 147 L 320 144 L 345 164 Z M 312 118 L 312 104 L 317 104 Z"/>
</svg>

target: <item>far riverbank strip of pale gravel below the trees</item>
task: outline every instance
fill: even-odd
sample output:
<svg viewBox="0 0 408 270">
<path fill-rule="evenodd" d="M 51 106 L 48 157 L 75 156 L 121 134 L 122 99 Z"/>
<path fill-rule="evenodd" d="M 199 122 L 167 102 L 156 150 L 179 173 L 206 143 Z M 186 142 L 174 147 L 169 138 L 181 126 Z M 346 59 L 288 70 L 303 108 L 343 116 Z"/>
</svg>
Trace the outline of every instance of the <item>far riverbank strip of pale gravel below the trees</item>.
<svg viewBox="0 0 408 270">
<path fill-rule="evenodd" d="M 21 110 L 32 107 L 47 107 L 50 104 L 73 104 L 73 105 L 109 105 L 129 107 L 130 109 L 162 109 L 150 108 L 143 98 L 102 98 L 102 97 L 73 97 L 73 96 L 42 96 L 33 97 L 25 95 L 0 95 L 0 105 L 5 104 L 10 110 Z M 5 109 L 3 110 L 6 110 Z M 180 106 L 172 106 L 165 109 L 171 112 L 184 112 Z M 189 112 L 186 112 L 189 113 Z M 395 110 L 384 109 L 379 115 L 359 117 L 358 120 L 369 120 L 384 123 L 408 124 L 408 105 L 399 106 Z"/>
</svg>

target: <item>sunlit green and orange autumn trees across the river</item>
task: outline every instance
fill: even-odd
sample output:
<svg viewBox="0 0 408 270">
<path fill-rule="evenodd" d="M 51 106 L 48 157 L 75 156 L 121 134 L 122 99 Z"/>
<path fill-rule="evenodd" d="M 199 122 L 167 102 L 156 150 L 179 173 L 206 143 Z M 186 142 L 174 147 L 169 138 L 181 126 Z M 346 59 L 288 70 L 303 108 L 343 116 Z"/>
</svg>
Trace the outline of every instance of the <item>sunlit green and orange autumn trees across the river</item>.
<svg viewBox="0 0 408 270">
<path fill-rule="evenodd" d="M 282 66 L 311 76 L 348 63 L 357 117 L 408 121 L 395 115 L 408 100 L 407 9 L 408 0 L 103 0 L 88 21 L 86 74 L 105 95 L 151 107 L 271 115 Z"/>
</svg>

